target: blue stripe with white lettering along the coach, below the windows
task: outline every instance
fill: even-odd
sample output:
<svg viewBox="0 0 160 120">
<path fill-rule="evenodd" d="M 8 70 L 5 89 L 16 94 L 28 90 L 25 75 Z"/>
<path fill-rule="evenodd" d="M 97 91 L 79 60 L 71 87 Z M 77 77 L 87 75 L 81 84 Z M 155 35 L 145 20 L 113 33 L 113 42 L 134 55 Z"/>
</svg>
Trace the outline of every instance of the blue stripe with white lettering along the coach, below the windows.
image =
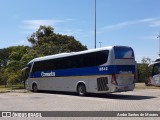
<svg viewBox="0 0 160 120">
<path fill-rule="evenodd" d="M 64 70 L 38 71 L 30 74 L 31 78 L 41 77 L 67 77 L 67 76 L 92 76 L 92 75 L 109 75 L 121 73 L 135 73 L 134 65 L 110 65 L 96 66 L 86 68 L 72 68 Z"/>
</svg>

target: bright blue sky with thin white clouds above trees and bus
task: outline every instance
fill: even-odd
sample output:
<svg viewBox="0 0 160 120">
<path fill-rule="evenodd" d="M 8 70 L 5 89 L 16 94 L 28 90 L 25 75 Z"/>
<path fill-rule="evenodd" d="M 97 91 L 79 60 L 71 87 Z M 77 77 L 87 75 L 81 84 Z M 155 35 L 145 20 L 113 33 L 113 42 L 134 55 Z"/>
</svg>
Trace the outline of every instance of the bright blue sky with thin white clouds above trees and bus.
<svg viewBox="0 0 160 120">
<path fill-rule="evenodd" d="M 136 60 L 159 54 L 160 0 L 97 0 L 97 47 L 131 46 Z M 94 0 L 0 0 L 0 48 L 30 45 L 40 25 L 94 48 Z"/>
</svg>

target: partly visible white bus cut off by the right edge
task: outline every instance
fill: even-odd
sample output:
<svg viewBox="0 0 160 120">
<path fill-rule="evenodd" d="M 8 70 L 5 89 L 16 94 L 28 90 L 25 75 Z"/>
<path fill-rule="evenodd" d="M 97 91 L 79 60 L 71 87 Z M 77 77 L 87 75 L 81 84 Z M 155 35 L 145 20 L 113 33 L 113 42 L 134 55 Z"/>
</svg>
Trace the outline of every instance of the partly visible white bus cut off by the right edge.
<svg viewBox="0 0 160 120">
<path fill-rule="evenodd" d="M 160 58 L 149 65 L 151 75 L 148 84 L 153 86 L 160 86 Z"/>
</svg>

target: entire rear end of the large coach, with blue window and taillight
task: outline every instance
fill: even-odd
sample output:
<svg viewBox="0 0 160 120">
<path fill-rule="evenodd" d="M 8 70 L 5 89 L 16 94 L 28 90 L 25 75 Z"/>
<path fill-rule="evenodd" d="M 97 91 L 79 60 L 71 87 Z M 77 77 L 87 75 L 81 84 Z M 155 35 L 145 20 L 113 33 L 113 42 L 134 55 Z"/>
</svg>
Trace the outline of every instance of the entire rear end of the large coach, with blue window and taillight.
<svg viewBox="0 0 160 120">
<path fill-rule="evenodd" d="M 135 57 L 130 47 L 115 46 L 110 92 L 132 91 L 135 87 Z"/>
</svg>

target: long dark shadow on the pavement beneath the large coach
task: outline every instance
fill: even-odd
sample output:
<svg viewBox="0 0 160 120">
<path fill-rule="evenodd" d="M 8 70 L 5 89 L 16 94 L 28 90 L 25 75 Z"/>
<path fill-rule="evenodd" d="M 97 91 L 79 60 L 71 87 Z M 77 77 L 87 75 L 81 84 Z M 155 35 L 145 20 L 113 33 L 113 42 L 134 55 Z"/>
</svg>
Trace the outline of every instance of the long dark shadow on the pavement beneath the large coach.
<svg viewBox="0 0 160 120">
<path fill-rule="evenodd" d="M 66 96 L 79 96 L 77 93 L 72 92 L 57 92 L 57 91 L 40 91 L 40 93 L 46 94 L 57 94 L 57 95 L 66 95 Z M 81 97 L 81 96 L 79 96 Z M 145 100 L 145 99 L 153 99 L 155 96 L 144 96 L 144 95 L 124 95 L 124 94 L 91 94 L 88 93 L 86 96 L 90 98 L 103 98 L 103 99 L 119 99 L 119 100 Z"/>
</svg>

